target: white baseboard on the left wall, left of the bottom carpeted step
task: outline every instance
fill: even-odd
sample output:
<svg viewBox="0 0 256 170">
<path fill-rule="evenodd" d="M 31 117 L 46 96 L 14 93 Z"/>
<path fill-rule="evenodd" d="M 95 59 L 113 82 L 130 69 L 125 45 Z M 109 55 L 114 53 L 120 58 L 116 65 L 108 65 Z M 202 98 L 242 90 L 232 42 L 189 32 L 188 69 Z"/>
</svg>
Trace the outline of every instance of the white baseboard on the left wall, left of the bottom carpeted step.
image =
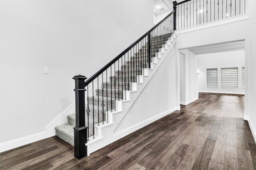
<svg viewBox="0 0 256 170">
<path fill-rule="evenodd" d="M 41 139 L 46 138 L 46 132 L 36 133 L 34 135 L 29 135 L 26 137 L 22 137 L 19 139 L 14 139 L 12 141 L 0 143 L 0 152 L 4 152 L 6 150 L 14 149 L 16 147 L 21 147 L 23 145 L 39 141 Z"/>
</svg>

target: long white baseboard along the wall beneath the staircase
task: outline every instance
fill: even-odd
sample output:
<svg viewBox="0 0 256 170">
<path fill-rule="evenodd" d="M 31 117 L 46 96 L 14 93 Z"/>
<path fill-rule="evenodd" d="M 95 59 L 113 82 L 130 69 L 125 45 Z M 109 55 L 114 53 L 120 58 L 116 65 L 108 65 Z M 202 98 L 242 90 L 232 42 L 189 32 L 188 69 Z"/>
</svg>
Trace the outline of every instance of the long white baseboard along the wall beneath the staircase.
<svg viewBox="0 0 256 170">
<path fill-rule="evenodd" d="M 154 121 L 156 121 L 156 120 L 158 120 L 158 119 L 160 119 L 160 118 L 162 118 L 162 117 L 164 117 L 164 116 L 166 116 L 166 115 L 168 115 L 172 112 L 174 112 L 174 111 L 176 111 L 176 107 L 173 107 L 172 109 L 169 109 L 169 110 L 166 110 L 162 113 L 159 113 L 158 115 L 150 117 L 149 119 L 146 119 L 144 121 L 136 123 L 135 125 L 132 125 L 132 126 L 126 128 L 126 129 L 123 129 L 122 131 L 114 133 L 114 137 L 115 137 L 115 139 L 120 139 L 120 138 L 122 138 L 126 135 L 129 135 L 130 133 L 132 133 L 132 132 L 134 132 L 134 131 L 136 131 L 136 130 L 138 130 L 138 129 L 140 129 L 140 128 L 142 128 L 142 127 L 144 127 L 144 126 L 146 126 L 146 125 L 148 125 L 148 124 L 150 124 L 150 123 L 152 123 L 152 122 L 154 122 Z"/>
</svg>

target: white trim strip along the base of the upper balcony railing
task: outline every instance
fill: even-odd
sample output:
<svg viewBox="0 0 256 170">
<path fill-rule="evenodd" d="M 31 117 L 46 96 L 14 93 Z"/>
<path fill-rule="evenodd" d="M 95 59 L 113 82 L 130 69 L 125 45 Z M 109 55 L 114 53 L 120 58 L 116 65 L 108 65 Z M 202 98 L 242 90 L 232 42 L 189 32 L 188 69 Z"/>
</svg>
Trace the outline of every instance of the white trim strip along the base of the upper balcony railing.
<svg viewBox="0 0 256 170">
<path fill-rule="evenodd" d="M 249 19 L 249 13 L 241 14 L 241 15 L 233 16 L 233 17 L 229 17 L 229 18 L 224 18 L 221 20 L 211 21 L 208 23 L 203 23 L 203 24 L 195 25 L 195 26 L 188 27 L 188 28 L 178 29 L 178 30 L 175 30 L 175 34 L 178 35 L 181 33 L 196 31 L 196 30 L 200 30 L 200 29 L 204 29 L 204 28 L 208 28 L 208 27 L 214 27 L 217 25 L 223 25 L 226 23 L 231 23 L 231 22 L 236 22 L 236 21 L 241 21 L 241 20 L 246 20 L 246 19 Z"/>
</svg>

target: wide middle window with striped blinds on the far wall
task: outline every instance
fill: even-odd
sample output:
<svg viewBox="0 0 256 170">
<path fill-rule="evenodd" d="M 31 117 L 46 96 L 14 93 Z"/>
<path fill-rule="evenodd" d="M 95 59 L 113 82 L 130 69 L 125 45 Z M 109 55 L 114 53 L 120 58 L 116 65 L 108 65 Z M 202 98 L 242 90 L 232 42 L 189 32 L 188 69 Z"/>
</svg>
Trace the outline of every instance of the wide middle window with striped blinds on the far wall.
<svg viewBox="0 0 256 170">
<path fill-rule="evenodd" d="M 238 88 L 238 68 L 221 68 L 221 87 Z"/>
</svg>

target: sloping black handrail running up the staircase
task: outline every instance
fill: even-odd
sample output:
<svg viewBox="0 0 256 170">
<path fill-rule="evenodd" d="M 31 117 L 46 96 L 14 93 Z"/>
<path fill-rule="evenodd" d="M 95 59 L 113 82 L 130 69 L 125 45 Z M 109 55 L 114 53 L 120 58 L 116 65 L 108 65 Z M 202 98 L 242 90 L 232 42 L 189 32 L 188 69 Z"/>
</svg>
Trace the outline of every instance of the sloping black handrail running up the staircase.
<svg viewBox="0 0 256 170">
<path fill-rule="evenodd" d="M 132 43 L 128 48 L 126 48 L 122 53 L 120 53 L 118 56 L 116 56 L 112 61 L 110 61 L 108 64 L 106 64 L 104 67 L 102 67 L 98 72 L 96 72 L 93 76 L 88 78 L 86 82 L 84 83 L 84 87 L 86 87 L 88 84 L 92 82 L 96 77 L 98 77 L 102 72 L 104 72 L 108 67 L 110 67 L 112 64 L 114 64 L 118 59 L 120 59 L 123 55 L 125 55 L 134 45 L 139 43 L 143 38 L 145 38 L 151 31 L 153 31 L 156 27 L 158 27 L 164 20 L 166 20 L 168 17 L 170 17 L 172 14 L 174 14 L 174 11 L 172 11 L 168 16 L 166 16 L 162 21 L 160 21 L 158 24 L 156 24 L 153 28 L 151 28 L 148 32 L 146 32 L 142 37 L 140 37 L 137 41 Z"/>
</svg>

